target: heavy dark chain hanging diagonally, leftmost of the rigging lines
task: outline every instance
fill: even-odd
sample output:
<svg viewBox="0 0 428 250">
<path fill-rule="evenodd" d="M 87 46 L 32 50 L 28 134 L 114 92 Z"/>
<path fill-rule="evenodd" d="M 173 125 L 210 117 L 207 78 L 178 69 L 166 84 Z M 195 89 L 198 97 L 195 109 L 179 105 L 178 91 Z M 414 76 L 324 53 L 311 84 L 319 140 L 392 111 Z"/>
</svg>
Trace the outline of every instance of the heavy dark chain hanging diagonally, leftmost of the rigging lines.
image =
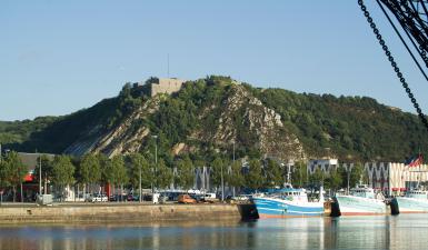
<svg viewBox="0 0 428 250">
<path fill-rule="evenodd" d="M 367 7 L 365 6 L 362 0 L 358 0 L 358 6 L 360 6 L 360 9 L 364 13 L 364 16 L 367 19 L 367 22 L 370 24 L 371 30 L 374 31 L 376 39 L 379 41 L 379 44 L 382 47 L 382 50 L 388 58 L 388 61 L 391 63 L 391 67 L 394 71 L 397 74 L 397 78 L 400 80 L 402 88 L 406 90 L 407 96 L 411 100 L 411 103 L 414 104 L 416 112 L 418 113 L 418 117 L 420 121 L 424 123 L 425 129 L 428 131 L 428 121 L 425 114 L 422 113 L 422 110 L 419 107 L 419 103 L 416 101 L 414 93 L 411 92 L 411 89 L 409 88 L 409 84 L 407 83 L 405 77 L 402 76 L 400 68 L 398 68 L 396 60 L 394 59 L 391 51 L 388 49 L 388 46 L 386 44 L 382 36 L 380 34 L 379 29 L 376 27 L 376 23 L 374 19 L 370 17 L 370 12 L 367 10 Z"/>
</svg>

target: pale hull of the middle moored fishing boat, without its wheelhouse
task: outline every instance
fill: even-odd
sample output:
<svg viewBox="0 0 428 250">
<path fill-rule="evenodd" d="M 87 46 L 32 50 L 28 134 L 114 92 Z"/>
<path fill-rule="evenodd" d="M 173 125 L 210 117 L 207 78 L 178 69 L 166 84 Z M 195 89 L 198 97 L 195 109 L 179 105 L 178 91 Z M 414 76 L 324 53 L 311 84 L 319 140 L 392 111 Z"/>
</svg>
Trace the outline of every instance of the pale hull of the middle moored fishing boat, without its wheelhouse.
<svg viewBox="0 0 428 250">
<path fill-rule="evenodd" d="M 381 200 L 354 197 L 337 196 L 335 198 L 341 216 L 375 216 L 388 213 L 387 204 Z"/>
</svg>

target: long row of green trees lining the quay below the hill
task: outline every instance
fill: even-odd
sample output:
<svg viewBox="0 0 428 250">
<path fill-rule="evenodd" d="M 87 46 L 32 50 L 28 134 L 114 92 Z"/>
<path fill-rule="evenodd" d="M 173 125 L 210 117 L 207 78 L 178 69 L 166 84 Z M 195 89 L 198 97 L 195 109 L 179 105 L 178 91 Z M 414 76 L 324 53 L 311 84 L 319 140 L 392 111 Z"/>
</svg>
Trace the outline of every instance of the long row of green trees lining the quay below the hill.
<svg viewBox="0 0 428 250">
<path fill-rule="evenodd" d="M 113 193 L 122 193 L 127 190 L 170 189 L 179 188 L 189 190 L 193 188 L 196 168 L 210 167 L 211 188 L 221 190 L 225 184 L 235 190 L 243 189 L 257 191 L 268 188 L 282 187 L 287 169 L 272 159 L 250 159 L 242 168 L 241 161 L 232 161 L 228 156 L 217 153 L 212 160 L 203 161 L 197 156 L 183 154 L 173 159 L 172 164 L 167 166 L 163 159 L 158 163 L 148 160 L 147 156 L 133 153 L 129 156 L 116 156 L 108 159 L 103 154 L 86 154 L 80 159 L 69 156 L 56 156 L 53 159 L 41 156 L 38 159 L 42 166 L 42 186 L 46 182 L 53 187 L 53 191 L 63 197 L 68 186 L 81 184 L 84 192 L 99 192 L 101 187 L 110 184 Z M 173 173 L 173 168 L 176 173 Z M 28 169 L 22 164 L 18 153 L 9 152 L 0 162 L 0 188 L 12 189 L 13 200 L 17 189 L 23 182 Z M 34 169 L 34 182 L 39 183 L 39 168 Z M 308 176 L 303 162 L 297 162 L 291 168 L 293 186 L 317 189 L 321 184 L 326 189 L 338 190 L 347 187 L 347 172 L 338 168 L 330 173 L 317 170 Z M 362 177 L 362 167 L 357 167 L 350 172 L 349 186 L 354 187 Z M 98 187 L 98 188 L 97 188 Z"/>
</svg>

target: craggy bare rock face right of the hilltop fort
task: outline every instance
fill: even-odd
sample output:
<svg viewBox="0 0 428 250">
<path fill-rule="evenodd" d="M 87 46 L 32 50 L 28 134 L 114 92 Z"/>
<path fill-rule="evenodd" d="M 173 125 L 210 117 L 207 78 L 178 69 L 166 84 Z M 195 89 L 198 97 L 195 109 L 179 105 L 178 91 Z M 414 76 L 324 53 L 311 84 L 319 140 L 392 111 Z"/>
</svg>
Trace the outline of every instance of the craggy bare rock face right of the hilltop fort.
<svg viewBox="0 0 428 250">
<path fill-rule="evenodd" d="M 266 157 L 282 160 L 298 160 L 305 157 L 299 139 L 287 131 L 281 116 L 265 107 L 242 86 L 232 86 L 222 103 L 207 108 L 200 119 L 206 119 L 208 113 L 219 113 L 217 128 L 213 131 L 202 128 L 195 132 L 193 138 L 226 148 L 230 148 L 233 142 L 255 147 Z"/>
</svg>

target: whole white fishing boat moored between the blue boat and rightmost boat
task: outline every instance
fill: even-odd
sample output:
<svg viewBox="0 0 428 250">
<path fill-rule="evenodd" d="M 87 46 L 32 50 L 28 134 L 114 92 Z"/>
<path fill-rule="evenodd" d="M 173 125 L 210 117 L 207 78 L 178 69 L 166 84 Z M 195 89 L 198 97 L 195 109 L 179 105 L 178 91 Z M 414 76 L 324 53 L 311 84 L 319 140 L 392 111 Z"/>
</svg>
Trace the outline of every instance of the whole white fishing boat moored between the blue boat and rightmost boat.
<svg viewBox="0 0 428 250">
<path fill-rule="evenodd" d="M 358 184 L 349 194 L 336 194 L 331 206 L 331 216 L 371 216 L 388 213 L 385 197 L 375 193 L 367 184 Z"/>
</svg>

